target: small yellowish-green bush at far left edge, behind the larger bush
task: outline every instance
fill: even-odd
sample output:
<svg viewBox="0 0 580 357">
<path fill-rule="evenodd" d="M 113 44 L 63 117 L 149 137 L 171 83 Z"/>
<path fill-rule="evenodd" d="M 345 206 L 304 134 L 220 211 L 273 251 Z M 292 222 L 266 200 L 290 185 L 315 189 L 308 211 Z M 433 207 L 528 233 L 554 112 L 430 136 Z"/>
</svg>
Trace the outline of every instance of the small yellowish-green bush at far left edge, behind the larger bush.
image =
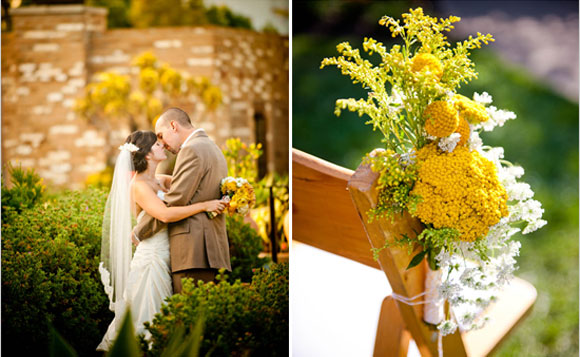
<svg viewBox="0 0 580 357">
<path fill-rule="evenodd" d="M 42 201 L 45 189 L 42 179 L 34 170 L 23 170 L 20 166 L 13 167 L 10 164 L 7 169 L 12 187 L 6 187 L 2 177 L 2 221 L 7 211 L 19 213 Z"/>
</svg>

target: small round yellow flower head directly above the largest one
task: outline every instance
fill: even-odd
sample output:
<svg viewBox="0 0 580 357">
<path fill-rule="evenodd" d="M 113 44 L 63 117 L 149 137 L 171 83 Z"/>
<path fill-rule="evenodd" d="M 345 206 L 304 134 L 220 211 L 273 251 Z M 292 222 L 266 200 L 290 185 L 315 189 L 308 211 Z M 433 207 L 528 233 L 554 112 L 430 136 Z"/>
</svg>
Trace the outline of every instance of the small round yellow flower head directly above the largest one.
<svg viewBox="0 0 580 357">
<path fill-rule="evenodd" d="M 440 138 L 453 134 L 459 125 L 457 109 L 451 103 L 442 100 L 429 104 L 423 112 L 423 118 L 425 131 Z"/>
</svg>

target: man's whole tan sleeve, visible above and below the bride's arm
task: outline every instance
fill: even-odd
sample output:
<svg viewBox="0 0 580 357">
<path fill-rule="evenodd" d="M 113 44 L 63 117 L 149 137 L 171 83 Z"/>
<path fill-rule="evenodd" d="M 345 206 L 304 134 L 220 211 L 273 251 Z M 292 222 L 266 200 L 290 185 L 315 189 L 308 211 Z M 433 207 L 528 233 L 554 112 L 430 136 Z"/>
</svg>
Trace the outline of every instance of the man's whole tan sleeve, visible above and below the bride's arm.
<svg viewBox="0 0 580 357">
<path fill-rule="evenodd" d="M 189 146 L 181 149 L 175 162 L 171 188 L 165 194 L 167 206 L 189 205 L 202 177 L 203 165 L 199 156 Z M 139 240 L 143 240 L 152 237 L 166 226 L 166 223 L 151 217 L 146 212 L 133 231 Z"/>
</svg>

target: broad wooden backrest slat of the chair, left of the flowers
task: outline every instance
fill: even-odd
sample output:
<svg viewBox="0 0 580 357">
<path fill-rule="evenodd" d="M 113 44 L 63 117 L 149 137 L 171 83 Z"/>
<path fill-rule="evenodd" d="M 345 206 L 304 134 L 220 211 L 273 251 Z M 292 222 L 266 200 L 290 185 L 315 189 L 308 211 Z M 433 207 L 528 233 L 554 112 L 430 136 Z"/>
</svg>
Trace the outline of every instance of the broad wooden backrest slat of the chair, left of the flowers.
<svg viewBox="0 0 580 357">
<path fill-rule="evenodd" d="M 380 269 L 346 189 L 352 174 L 292 149 L 292 239 Z"/>
</svg>

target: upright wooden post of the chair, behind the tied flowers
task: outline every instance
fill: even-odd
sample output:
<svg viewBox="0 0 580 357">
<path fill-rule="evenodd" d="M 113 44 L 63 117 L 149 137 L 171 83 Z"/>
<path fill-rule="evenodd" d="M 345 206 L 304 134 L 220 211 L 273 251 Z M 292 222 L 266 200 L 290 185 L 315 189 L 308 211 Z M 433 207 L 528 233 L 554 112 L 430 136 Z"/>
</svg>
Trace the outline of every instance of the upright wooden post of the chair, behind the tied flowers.
<svg viewBox="0 0 580 357">
<path fill-rule="evenodd" d="M 361 165 L 348 183 L 352 200 L 365 226 L 368 239 L 374 248 L 382 247 L 385 241 L 394 242 L 403 234 L 414 237 L 422 230 L 419 220 L 412 218 L 406 212 L 402 216 L 397 216 L 394 221 L 390 219 L 368 221 L 368 210 L 376 206 L 377 177 L 378 174 L 372 172 L 368 165 Z M 408 254 L 407 249 L 391 247 L 383 249 L 379 254 L 380 266 L 396 294 L 413 297 L 425 290 L 425 261 L 423 264 L 406 270 L 409 262 L 418 252 L 420 252 L 420 248 L 417 248 L 412 254 Z M 421 355 L 437 356 L 437 332 L 423 323 L 423 305 L 409 306 L 400 302 L 397 304 L 405 321 L 405 326 L 415 340 Z M 443 351 L 449 351 L 449 354 L 446 355 L 466 356 L 459 331 L 443 339 Z"/>
</svg>

